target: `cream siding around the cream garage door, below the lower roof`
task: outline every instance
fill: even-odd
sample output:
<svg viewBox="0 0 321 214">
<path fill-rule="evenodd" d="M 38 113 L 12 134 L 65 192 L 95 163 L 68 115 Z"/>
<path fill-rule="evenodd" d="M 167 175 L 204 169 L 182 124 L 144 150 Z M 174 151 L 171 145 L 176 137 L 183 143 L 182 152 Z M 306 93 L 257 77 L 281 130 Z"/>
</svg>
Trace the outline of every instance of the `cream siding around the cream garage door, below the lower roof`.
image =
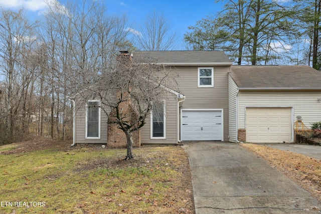
<svg viewBox="0 0 321 214">
<path fill-rule="evenodd" d="M 296 116 L 301 116 L 302 122 L 309 128 L 310 123 L 321 120 L 321 103 L 317 101 L 320 97 L 320 91 L 240 91 L 238 128 L 245 128 L 246 107 L 292 107 L 292 121 L 296 121 Z"/>
</svg>

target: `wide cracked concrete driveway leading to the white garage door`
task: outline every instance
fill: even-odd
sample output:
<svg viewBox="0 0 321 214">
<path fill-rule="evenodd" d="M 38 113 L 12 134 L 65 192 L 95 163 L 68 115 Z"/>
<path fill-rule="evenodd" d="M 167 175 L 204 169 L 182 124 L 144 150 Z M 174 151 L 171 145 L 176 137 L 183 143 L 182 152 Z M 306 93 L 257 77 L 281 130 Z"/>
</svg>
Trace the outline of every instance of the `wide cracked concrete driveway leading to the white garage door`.
<svg viewBox="0 0 321 214">
<path fill-rule="evenodd" d="M 190 142 L 196 214 L 317 213 L 321 204 L 237 143 Z"/>
</svg>

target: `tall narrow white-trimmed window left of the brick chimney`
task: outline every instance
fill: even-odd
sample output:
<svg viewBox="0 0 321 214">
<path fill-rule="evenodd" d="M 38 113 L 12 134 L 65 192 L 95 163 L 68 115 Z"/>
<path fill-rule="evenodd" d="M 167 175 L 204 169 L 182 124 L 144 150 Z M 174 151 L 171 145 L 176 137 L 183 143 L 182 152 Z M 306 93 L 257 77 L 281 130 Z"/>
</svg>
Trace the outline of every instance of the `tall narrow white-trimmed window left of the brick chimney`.
<svg viewBox="0 0 321 214">
<path fill-rule="evenodd" d="M 100 101 L 86 103 L 86 139 L 100 139 Z"/>
</svg>

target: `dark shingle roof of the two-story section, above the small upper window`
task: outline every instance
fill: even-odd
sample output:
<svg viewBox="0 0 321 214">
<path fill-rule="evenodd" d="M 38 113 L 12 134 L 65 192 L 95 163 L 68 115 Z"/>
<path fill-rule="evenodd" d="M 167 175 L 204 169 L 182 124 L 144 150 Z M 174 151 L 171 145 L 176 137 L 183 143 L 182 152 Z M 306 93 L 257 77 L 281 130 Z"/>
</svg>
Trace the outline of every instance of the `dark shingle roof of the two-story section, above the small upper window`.
<svg viewBox="0 0 321 214">
<path fill-rule="evenodd" d="M 232 65 L 223 51 L 135 51 L 134 62 L 156 61 L 164 65 Z"/>
</svg>

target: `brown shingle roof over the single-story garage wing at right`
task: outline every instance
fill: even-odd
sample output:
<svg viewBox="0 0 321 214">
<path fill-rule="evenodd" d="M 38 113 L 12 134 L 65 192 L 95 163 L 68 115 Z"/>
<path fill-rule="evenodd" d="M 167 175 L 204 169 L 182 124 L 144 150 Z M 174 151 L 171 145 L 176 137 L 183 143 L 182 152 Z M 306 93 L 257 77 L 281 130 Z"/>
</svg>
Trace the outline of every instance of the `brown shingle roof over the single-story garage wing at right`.
<svg viewBox="0 0 321 214">
<path fill-rule="evenodd" d="M 229 74 L 243 90 L 321 89 L 321 72 L 309 66 L 232 66 Z"/>
</svg>

